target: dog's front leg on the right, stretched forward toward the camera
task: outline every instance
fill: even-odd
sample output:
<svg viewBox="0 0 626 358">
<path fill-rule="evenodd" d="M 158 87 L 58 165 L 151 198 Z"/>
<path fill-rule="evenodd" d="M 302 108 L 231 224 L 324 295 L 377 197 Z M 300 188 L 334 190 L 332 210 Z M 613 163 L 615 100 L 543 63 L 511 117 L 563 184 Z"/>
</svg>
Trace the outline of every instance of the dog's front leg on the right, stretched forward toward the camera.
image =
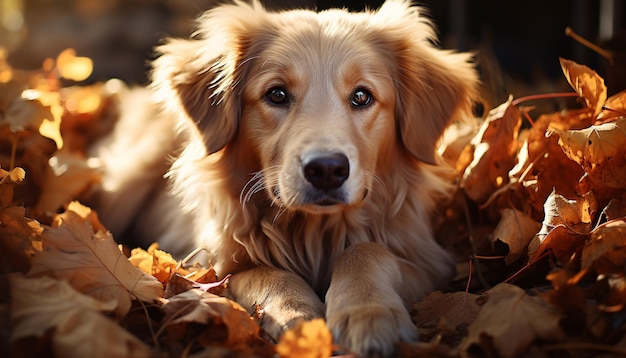
<svg viewBox="0 0 626 358">
<path fill-rule="evenodd" d="M 326 319 L 336 342 L 360 356 L 389 356 L 417 329 L 399 294 L 402 275 L 384 246 L 351 246 L 338 259 L 326 294 Z"/>
</svg>

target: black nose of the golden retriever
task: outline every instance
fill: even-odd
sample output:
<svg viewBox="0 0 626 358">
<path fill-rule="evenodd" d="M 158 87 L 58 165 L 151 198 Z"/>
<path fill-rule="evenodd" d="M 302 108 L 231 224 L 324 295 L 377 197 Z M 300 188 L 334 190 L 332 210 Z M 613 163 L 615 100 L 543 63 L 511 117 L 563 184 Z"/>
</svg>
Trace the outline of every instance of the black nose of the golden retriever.
<svg viewBox="0 0 626 358">
<path fill-rule="evenodd" d="M 341 153 L 315 156 L 304 163 L 304 177 L 314 187 L 323 190 L 336 189 L 348 179 L 350 162 Z"/>
</svg>

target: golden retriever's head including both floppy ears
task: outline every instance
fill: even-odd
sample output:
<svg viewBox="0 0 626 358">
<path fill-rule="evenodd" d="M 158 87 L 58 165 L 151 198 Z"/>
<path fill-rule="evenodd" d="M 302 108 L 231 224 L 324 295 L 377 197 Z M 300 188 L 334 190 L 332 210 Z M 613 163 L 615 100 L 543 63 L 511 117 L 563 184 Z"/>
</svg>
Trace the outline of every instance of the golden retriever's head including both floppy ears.
<svg viewBox="0 0 626 358">
<path fill-rule="evenodd" d="M 262 183 L 291 209 L 359 205 L 398 157 L 434 163 L 476 93 L 470 55 L 435 48 L 418 12 L 405 0 L 367 13 L 222 5 L 194 38 L 159 48 L 154 85 L 208 153 L 239 146 L 257 163 L 244 198 Z"/>
</svg>

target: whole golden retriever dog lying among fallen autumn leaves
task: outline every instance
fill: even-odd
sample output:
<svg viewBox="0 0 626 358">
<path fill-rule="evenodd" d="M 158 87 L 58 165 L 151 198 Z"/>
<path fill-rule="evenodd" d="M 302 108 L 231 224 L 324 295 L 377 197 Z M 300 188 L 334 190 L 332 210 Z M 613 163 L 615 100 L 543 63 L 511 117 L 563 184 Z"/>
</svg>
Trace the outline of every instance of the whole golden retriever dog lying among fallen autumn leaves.
<svg viewBox="0 0 626 358">
<path fill-rule="evenodd" d="M 105 160 L 105 224 L 141 226 L 168 250 L 205 246 L 276 337 L 325 317 L 359 355 L 414 340 L 407 307 L 454 271 L 429 217 L 452 187 L 435 147 L 478 86 L 471 55 L 437 48 L 420 12 L 389 0 L 359 13 L 257 1 L 204 13 L 192 38 L 158 47 L 165 114 L 149 114 L 152 129 L 139 115 L 120 123 L 118 136 L 145 133 Z M 173 197 L 152 184 L 167 155 Z"/>
</svg>

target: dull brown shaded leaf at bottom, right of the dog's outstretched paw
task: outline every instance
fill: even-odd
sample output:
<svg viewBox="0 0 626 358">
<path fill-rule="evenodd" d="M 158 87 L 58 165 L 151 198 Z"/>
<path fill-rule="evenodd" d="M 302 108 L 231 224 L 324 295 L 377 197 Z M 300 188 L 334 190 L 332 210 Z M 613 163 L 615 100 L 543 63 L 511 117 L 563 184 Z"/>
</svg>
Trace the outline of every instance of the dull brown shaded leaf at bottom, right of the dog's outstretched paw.
<svg viewBox="0 0 626 358">
<path fill-rule="evenodd" d="M 468 327 L 462 349 L 483 346 L 488 340 L 503 357 L 515 357 L 537 340 L 557 340 L 561 314 L 539 297 L 521 288 L 501 283 L 487 291 L 487 303 Z"/>
</svg>

